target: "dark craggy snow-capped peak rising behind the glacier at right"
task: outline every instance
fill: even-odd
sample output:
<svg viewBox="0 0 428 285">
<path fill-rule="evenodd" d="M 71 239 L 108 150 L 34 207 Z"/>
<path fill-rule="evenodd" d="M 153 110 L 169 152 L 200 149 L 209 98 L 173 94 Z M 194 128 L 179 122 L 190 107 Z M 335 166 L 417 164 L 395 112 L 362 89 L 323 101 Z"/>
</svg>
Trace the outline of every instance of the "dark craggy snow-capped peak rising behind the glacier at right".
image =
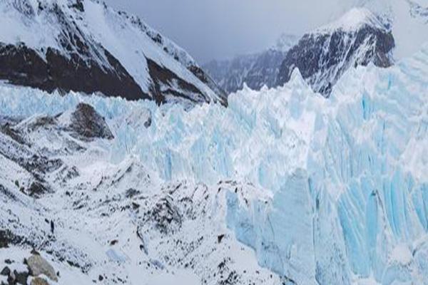
<svg viewBox="0 0 428 285">
<path fill-rule="evenodd" d="M 392 65 L 394 36 L 387 20 L 368 9 L 352 9 L 336 22 L 305 34 L 282 62 L 277 84 L 290 81 L 298 68 L 315 92 L 328 97 L 349 68 L 369 63 Z"/>
</svg>

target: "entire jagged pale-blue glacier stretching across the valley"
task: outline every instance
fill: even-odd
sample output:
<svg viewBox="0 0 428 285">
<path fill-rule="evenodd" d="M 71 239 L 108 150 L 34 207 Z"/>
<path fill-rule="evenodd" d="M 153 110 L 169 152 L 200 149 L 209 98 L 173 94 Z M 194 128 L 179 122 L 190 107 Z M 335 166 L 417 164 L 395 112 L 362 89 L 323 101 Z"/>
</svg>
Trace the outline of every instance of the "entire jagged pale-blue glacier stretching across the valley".
<svg viewBox="0 0 428 285">
<path fill-rule="evenodd" d="M 230 189 L 225 222 L 288 284 L 428 284 L 427 78 L 424 46 L 391 68 L 350 68 L 328 99 L 295 71 L 283 87 L 233 93 L 228 108 L 190 110 L 2 84 L 0 113 L 85 102 L 113 132 L 96 142 L 113 165 L 263 190 L 243 199 Z"/>
</svg>

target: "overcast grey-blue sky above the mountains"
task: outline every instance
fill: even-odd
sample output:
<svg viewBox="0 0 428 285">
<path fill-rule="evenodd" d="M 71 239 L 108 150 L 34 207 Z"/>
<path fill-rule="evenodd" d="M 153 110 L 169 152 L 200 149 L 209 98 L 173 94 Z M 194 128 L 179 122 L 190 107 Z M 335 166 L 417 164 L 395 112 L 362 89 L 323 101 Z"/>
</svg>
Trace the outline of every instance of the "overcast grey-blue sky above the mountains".
<svg viewBox="0 0 428 285">
<path fill-rule="evenodd" d="M 197 61 L 261 51 L 281 33 L 300 34 L 345 11 L 351 0 L 105 0 L 137 14 Z"/>
</svg>

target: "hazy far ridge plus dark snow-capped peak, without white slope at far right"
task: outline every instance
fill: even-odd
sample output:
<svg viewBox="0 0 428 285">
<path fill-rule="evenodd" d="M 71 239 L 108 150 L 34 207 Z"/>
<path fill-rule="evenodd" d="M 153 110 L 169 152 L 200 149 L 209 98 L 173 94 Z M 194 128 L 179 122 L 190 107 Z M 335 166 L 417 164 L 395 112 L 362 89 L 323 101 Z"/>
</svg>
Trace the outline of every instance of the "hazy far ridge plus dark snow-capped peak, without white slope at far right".
<svg viewBox="0 0 428 285">
<path fill-rule="evenodd" d="M 300 38 L 283 35 L 262 53 L 211 61 L 203 68 L 227 92 L 246 84 L 253 90 L 275 88 L 290 81 L 295 68 L 315 92 L 328 97 L 337 80 L 350 67 L 392 66 L 394 37 L 388 19 L 368 9 L 352 9 L 339 20 Z"/>
</svg>

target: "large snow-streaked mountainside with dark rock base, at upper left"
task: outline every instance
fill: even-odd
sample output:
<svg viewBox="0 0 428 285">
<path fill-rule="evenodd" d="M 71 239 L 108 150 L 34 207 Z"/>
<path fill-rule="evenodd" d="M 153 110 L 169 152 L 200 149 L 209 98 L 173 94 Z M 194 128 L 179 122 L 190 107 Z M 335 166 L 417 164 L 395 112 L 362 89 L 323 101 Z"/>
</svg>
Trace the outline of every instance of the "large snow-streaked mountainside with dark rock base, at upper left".
<svg viewBox="0 0 428 285">
<path fill-rule="evenodd" d="M 10 83 L 158 103 L 227 103 L 182 48 L 98 1 L 4 0 L 0 14 L 0 79 Z"/>
</svg>

